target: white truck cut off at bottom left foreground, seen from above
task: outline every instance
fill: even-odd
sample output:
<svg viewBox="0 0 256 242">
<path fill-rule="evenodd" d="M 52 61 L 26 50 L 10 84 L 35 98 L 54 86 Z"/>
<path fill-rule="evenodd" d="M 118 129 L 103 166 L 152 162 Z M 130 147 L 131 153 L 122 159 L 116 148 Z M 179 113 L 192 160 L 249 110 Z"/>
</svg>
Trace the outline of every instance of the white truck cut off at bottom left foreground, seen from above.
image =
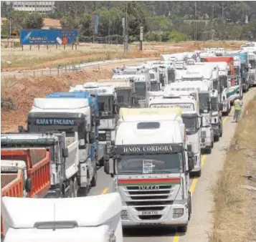
<svg viewBox="0 0 256 242">
<path fill-rule="evenodd" d="M 121 209 L 118 193 L 62 199 L 4 197 L 4 242 L 123 242 Z"/>
</svg>

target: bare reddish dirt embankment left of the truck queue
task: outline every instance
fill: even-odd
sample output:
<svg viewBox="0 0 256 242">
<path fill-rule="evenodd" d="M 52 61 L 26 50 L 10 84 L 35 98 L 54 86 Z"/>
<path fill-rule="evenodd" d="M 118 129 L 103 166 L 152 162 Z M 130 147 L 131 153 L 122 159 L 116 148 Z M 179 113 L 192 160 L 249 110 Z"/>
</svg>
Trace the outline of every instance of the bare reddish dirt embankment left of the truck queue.
<svg viewBox="0 0 256 242">
<path fill-rule="evenodd" d="M 26 127 L 27 114 L 35 97 L 45 97 L 52 92 L 68 92 L 70 85 L 106 79 L 112 76 L 110 69 L 90 69 L 86 72 L 72 72 L 61 77 L 25 78 L 12 86 L 1 88 L 1 97 L 10 97 L 13 110 L 1 108 L 1 132 L 16 132 L 18 125 Z"/>
</svg>

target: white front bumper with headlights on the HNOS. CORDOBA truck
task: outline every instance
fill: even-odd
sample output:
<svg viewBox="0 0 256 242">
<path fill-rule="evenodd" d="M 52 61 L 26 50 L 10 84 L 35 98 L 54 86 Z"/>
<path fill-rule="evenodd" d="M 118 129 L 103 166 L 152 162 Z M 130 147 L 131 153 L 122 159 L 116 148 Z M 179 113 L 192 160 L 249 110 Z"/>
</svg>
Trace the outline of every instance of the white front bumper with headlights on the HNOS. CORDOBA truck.
<svg viewBox="0 0 256 242">
<path fill-rule="evenodd" d="M 174 218 L 173 209 L 174 208 L 183 208 L 184 214 L 179 218 Z M 125 212 L 126 211 L 126 212 Z M 158 219 L 141 219 L 139 218 L 141 211 L 136 210 L 132 206 L 123 206 L 121 212 L 121 219 L 123 227 L 132 227 L 132 226 L 184 226 L 188 223 L 188 208 L 187 205 L 181 204 L 172 204 L 166 206 L 161 212 L 161 218 Z"/>
</svg>

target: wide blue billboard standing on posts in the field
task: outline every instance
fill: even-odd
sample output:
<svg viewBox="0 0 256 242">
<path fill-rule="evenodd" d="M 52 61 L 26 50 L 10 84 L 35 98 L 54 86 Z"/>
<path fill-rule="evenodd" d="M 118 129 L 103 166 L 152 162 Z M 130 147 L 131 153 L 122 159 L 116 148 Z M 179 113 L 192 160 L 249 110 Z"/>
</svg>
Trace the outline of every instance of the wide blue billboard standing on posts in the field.
<svg viewBox="0 0 256 242">
<path fill-rule="evenodd" d="M 75 44 L 78 29 L 22 29 L 20 43 L 26 44 Z"/>
</svg>

